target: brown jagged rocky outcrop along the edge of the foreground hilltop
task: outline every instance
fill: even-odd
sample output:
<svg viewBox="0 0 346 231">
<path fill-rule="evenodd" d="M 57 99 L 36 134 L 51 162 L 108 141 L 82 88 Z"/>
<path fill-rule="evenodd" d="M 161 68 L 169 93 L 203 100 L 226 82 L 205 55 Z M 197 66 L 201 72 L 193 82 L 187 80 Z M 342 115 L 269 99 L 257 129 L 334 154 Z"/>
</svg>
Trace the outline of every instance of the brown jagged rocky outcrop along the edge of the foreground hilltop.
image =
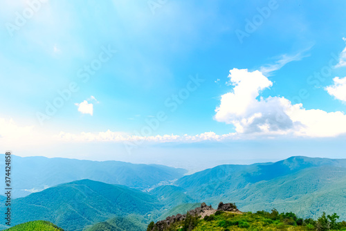
<svg viewBox="0 0 346 231">
<path fill-rule="evenodd" d="M 179 221 L 185 221 L 188 214 L 190 216 L 196 216 L 203 218 L 204 216 L 211 214 L 215 214 L 217 211 L 224 211 L 224 212 L 240 212 L 237 209 L 237 206 L 235 206 L 234 203 L 219 203 L 219 206 L 217 207 L 217 210 L 214 210 L 211 205 L 207 205 L 206 203 L 202 203 L 201 207 L 196 207 L 194 210 L 190 210 L 187 214 L 176 214 L 176 216 L 168 216 L 163 221 L 158 221 L 155 224 L 151 224 L 148 226 L 148 231 L 154 231 L 154 230 L 166 230 L 167 228 L 170 228 L 170 225 L 175 222 Z"/>
</svg>

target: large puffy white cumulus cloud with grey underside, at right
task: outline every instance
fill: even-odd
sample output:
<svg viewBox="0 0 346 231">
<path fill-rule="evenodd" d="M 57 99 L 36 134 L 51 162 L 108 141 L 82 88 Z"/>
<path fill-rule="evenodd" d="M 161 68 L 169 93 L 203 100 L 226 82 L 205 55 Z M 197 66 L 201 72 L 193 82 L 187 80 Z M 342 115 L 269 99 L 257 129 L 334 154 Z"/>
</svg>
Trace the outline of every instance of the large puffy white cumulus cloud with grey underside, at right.
<svg viewBox="0 0 346 231">
<path fill-rule="evenodd" d="M 284 97 L 258 98 L 273 83 L 260 71 L 230 70 L 233 91 L 221 96 L 215 120 L 234 124 L 242 134 L 293 134 L 295 136 L 331 137 L 346 133 L 346 115 L 307 110 Z"/>
</svg>

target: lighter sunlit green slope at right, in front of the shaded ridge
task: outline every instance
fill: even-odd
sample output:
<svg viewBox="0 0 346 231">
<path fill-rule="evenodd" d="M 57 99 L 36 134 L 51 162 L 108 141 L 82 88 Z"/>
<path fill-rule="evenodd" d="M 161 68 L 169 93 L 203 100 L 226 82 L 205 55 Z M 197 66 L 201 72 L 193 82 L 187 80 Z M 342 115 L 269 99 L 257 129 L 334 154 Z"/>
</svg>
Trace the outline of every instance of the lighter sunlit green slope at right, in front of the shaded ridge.
<svg viewBox="0 0 346 231">
<path fill-rule="evenodd" d="M 240 192 L 247 198 L 240 201 L 243 210 L 292 210 L 304 218 L 316 219 L 322 212 L 336 212 L 346 219 L 346 169 L 319 167 L 293 176 L 259 183 Z M 235 198 L 236 195 L 230 195 Z M 244 205 L 244 206 L 243 206 Z"/>
</svg>

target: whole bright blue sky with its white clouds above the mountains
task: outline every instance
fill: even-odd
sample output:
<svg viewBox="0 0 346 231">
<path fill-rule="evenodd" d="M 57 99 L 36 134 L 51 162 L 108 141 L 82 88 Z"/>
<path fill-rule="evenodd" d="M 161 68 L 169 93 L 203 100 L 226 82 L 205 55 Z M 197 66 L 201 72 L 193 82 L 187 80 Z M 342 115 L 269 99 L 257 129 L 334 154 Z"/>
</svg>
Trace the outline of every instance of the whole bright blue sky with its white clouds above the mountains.
<svg viewBox="0 0 346 231">
<path fill-rule="evenodd" d="M 1 147 L 167 165 L 343 157 L 345 5 L 3 1 Z"/>
</svg>

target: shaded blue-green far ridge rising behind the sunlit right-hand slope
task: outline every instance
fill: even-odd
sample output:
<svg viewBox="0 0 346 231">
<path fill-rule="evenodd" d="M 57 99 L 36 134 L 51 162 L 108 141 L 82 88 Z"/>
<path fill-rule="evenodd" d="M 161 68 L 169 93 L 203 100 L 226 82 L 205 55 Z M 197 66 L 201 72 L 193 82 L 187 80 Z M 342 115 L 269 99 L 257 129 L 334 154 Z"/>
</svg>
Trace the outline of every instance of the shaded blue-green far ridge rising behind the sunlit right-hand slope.
<svg viewBox="0 0 346 231">
<path fill-rule="evenodd" d="M 322 166 L 346 167 L 346 160 L 295 156 L 276 163 L 220 165 L 190 176 L 184 176 L 176 182 L 176 185 L 183 187 L 190 194 L 197 194 L 197 199 L 201 201 L 203 198 L 242 189 L 248 184 L 270 181 L 281 176 L 294 174 L 302 169 Z"/>
</svg>

